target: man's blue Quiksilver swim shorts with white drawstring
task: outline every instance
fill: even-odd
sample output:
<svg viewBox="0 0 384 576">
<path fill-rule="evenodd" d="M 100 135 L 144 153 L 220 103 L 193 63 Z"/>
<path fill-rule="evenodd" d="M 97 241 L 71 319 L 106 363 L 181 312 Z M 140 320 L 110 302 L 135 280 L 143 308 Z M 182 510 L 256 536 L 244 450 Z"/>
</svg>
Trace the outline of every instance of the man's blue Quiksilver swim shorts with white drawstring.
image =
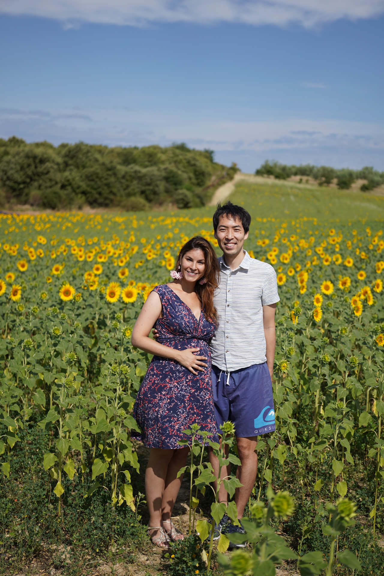
<svg viewBox="0 0 384 576">
<path fill-rule="evenodd" d="M 260 436 L 275 430 L 272 382 L 267 362 L 225 372 L 212 365 L 212 388 L 218 433 L 230 420 L 237 438 Z"/>
</svg>

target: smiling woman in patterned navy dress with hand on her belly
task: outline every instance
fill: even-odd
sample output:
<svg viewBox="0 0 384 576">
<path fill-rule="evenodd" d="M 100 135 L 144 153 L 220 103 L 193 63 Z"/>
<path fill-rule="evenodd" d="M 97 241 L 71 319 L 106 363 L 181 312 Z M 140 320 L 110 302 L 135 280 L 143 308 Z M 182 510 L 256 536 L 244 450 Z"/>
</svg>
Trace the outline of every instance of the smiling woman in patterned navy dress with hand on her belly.
<svg viewBox="0 0 384 576">
<path fill-rule="evenodd" d="M 183 430 L 197 423 L 218 441 L 208 341 L 216 327 L 219 266 L 211 244 L 201 236 L 188 240 L 170 275 L 174 281 L 154 288 L 132 332 L 132 344 L 154 354 L 134 406 L 141 434 L 132 436 L 151 448 L 145 476 L 148 533 L 160 548 L 184 538 L 171 519 L 183 479 L 177 472 L 189 452 L 178 441 L 191 441 Z M 154 324 L 156 341 L 149 338 Z"/>
</svg>

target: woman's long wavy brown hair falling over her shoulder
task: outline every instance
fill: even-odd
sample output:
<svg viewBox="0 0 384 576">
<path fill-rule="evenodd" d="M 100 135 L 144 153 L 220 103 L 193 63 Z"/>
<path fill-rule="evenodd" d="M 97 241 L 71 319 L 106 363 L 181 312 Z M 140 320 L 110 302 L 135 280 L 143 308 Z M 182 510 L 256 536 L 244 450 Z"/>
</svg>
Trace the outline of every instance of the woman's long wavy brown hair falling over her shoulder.
<svg viewBox="0 0 384 576">
<path fill-rule="evenodd" d="M 220 268 L 218 257 L 210 242 L 203 238 L 203 236 L 193 236 L 191 240 L 185 242 L 177 256 L 176 270 L 180 267 L 184 254 L 195 249 L 201 250 L 204 253 L 204 278 L 207 281 L 205 284 L 196 282 L 195 291 L 201 302 L 201 307 L 204 310 L 206 319 L 211 322 L 214 321 L 214 323 L 217 324 L 217 312 L 214 306 L 214 290 L 219 285 Z"/>
</svg>

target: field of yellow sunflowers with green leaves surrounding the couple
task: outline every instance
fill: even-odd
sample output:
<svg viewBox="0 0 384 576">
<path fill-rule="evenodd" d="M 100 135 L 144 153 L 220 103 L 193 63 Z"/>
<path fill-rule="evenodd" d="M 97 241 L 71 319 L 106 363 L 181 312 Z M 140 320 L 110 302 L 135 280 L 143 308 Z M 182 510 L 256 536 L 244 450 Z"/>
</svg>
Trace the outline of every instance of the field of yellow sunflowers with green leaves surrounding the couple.
<svg viewBox="0 0 384 576">
<path fill-rule="evenodd" d="M 379 574 L 384 202 L 334 196 L 239 184 L 231 198 L 252 215 L 245 248 L 275 268 L 281 299 L 276 432 L 258 442 L 252 498 L 289 491 L 295 511 L 275 529 L 298 555 L 325 558 L 325 503 L 355 502 L 356 523 L 337 546 L 356 554 L 360 574 Z M 130 431 L 150 358 L 130 336 L 184 242 L 200 234 L 217 248 L 213 211 L 0 215 L 3 572 L 48 556 L 60 567 L 67 555 L 71 574 L 93 574 L 100 559 L 120 553 L 134 564 L 149 547 L 146 460 Z"/>
</svg>

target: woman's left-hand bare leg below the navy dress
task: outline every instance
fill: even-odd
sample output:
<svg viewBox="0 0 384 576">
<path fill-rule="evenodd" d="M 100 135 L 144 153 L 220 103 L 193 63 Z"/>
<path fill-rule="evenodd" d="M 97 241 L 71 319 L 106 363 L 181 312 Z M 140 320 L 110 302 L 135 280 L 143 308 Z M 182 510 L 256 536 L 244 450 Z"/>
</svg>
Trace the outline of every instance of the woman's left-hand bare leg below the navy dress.
<svg viewBox="0 0 384 576">
<path fill-rule="evenodd" d="M 162 501 L 169 463 L 175 450 L 151 448 L 145 472 L 145 491 L 149 511 L 149 526 L 162 526 Z M 153 539 L 159 536 L 159 530 L 152 530 Z"/>
</svg>

